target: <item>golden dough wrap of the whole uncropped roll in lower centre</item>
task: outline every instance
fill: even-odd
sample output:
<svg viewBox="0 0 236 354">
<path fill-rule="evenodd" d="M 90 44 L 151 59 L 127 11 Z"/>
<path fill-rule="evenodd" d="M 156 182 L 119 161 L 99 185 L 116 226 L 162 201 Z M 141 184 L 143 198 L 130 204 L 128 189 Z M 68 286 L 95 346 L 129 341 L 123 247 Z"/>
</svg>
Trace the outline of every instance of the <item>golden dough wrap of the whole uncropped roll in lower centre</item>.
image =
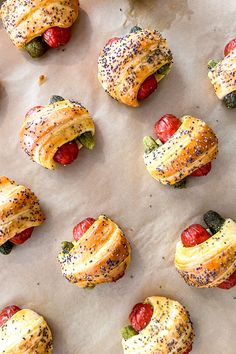
<svg viewBox="0 0 236 354">
<path fill-rule="evenodd" d="M 58 256 L 63 275 L 79 287 L 120 279 L 131 259 L 129 241 L 121 229 L 101 215 L 69 253 Z"/>
</svg>

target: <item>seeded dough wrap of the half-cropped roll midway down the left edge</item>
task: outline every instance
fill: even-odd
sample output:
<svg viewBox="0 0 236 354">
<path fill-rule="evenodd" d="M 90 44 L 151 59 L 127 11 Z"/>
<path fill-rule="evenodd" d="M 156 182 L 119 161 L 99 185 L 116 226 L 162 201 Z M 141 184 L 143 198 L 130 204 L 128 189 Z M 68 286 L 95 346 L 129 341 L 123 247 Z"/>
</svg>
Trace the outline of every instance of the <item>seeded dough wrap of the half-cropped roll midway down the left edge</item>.
<svg viewBox="0 0 236 354">
<path fill-rule="evenodd" d="M 29 188 L 0 177 L 0 246 L 44 220 L 38 198 Z"/>
</svg>

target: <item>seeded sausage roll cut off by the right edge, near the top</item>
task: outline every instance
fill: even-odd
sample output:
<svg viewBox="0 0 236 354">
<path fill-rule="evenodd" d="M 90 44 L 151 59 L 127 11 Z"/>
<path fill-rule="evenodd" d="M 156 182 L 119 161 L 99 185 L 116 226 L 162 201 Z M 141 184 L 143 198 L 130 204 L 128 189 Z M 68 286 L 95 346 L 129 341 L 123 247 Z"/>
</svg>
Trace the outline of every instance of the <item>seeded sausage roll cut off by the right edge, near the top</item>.
<svg viewBox="0 0 236 354">
<path fill-rule="evenodd" d="M 216 96 L 223 100 L 227 108 L 236 107 L 236 38 L 224 49 L 223 60 L 208 62 L 208 77 L 214 87 Z"/>
</svg>

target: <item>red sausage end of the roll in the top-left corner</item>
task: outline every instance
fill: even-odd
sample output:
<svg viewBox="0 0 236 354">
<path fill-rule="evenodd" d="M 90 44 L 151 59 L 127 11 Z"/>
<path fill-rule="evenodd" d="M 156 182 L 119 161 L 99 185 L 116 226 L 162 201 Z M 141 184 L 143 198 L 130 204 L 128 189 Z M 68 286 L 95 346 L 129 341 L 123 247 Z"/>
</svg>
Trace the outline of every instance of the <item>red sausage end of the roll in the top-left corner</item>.
<svg viewBox="0 0 236 354">
<path fill-rule="evenodd" d="M 71 38 L 71 27 L 60 28 L 60 27 L 51 27 L 43 34 L 44 41 L 51 48 L 58 48 L 61 45 L 65 45 L 69 42 Z"/>
</svg>

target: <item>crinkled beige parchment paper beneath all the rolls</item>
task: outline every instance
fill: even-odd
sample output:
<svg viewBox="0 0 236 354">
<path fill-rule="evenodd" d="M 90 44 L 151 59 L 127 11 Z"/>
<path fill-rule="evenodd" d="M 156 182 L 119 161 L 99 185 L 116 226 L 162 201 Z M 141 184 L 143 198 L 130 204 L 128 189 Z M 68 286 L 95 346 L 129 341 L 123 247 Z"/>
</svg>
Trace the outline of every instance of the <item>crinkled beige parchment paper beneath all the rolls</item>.
<svg viewBox="0 0 236 354">
<path fill-rule="evenodd" d="M 208 58 L 221 57 L 236 33 L 235 0 L 81 0 L 81 13 L 65 50 L 31 60 L 1 28 L 0 173 L 40 198 L 47 220 L 11 255 L 0 257 L 0 305 L 15 303 L 43 314 L 55 354 L 122 353 L 120 328 L 136 302 L 149 295 L 179 300 L 196 331 L 193 354 L 235 354 L 236 288 L 188 287 L 173 265 L 180 232 L 215 209 L 236 219 L 235 110 L 223 107 L 207 78 Z M 96 60 L 108 38 L 133 25 L 167 37 L 175 65 L 150 99 L 129 108 L 99 85 Z M 38 76 L 48 77 L 39 86 Z M 25 112 L 52 94 L 79 99 L 95 119 L 96 148 L 55 172 L 32 163 L 18 131 Z M 189 179 L 186 190 L 161 186 L 147 173 L 142 138 L 165 113 L 204 119 L 220 140 L 209 176 Z M 105 213 L 126 232 L 132 263 L 116 284 L 83 290 L 69 284 L 57 262 L 60 242 L 87 216 Z"/>
</svg>

